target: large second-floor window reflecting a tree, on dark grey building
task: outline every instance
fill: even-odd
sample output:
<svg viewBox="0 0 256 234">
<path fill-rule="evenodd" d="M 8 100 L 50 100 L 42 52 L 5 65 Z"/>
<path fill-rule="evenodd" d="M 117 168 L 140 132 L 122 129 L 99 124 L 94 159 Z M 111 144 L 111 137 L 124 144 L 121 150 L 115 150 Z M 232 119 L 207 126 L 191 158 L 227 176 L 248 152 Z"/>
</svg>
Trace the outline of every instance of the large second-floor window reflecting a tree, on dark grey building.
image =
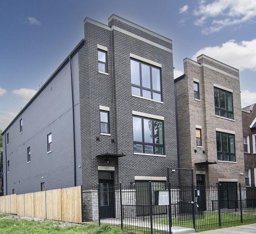
<svg viewBox="0 0 256 234">
<path fill-rule="evenodd" d="M 134 153 L 164 154 L 163 122 L 133 116 Z"/>
</svg>

